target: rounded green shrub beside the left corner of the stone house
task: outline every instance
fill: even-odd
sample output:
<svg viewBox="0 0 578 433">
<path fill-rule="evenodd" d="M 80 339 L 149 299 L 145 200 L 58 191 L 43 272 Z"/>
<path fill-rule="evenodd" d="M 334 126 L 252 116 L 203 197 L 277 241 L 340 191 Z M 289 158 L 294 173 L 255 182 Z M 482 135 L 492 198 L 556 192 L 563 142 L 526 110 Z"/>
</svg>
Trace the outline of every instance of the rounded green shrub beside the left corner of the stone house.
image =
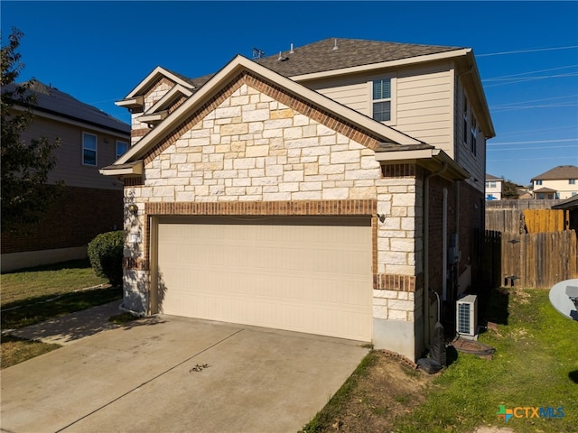
<svg viewBox="0 0 578 433">
<path fill-rule="evenodd" d="M 99 277 L 105 277 L 113 286 L 123 282 L 123 248 L 125 232 L 107 232 L 97 235 L 89 243 L 90 265 Z"/>
</svg>

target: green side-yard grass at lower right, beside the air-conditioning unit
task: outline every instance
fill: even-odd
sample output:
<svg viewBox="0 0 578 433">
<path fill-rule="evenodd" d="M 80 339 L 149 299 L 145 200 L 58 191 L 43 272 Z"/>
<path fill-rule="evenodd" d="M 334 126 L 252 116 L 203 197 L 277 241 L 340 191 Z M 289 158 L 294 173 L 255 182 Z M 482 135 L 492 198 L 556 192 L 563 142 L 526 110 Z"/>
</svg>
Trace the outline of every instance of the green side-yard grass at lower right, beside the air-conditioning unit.
<svg viewBox="0 0 578 433">
<path fill-rule="evenodd" d="M 564 318 L 548 299 L 548 290 L 492 293 L 490 309 L 502 319 L 498 329 L 480 335 L 496 348 L 489 361 L 459 354 L 433 383 L 427 401 L 396 424 L 395 431 L 472 431 L 479 426 L 512 428 L 517 432 L 574 431 L 578 425 L 578 322 Z M 492 302 L 498 306 L 491 308 Z M 504 319 L 507 318 L 507 319 Z M 564 407 L 564 418 L 498 419 L 499 405 Z M 521 412 L 520 412 L 521 413 Z"/>
</svg>

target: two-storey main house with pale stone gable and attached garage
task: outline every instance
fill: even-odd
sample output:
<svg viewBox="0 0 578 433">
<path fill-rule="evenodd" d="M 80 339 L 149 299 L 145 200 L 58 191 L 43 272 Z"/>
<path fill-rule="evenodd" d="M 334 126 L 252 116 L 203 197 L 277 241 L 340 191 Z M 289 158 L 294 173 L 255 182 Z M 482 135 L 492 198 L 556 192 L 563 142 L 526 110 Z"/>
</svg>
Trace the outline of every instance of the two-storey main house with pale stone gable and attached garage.
<svg viewBox="0 0 578 433">
<path fill-rule="evenodd" d="M 158 67 L 122 101 L 124 306 L 371 341 L 415 359 L 480 281 L 486 139 L 471 49 L 328 39 Z M 458 285 L 459 284 L 459 285 Z M 426 319 L 427 318 L 427 319 Z"/>
</svg>

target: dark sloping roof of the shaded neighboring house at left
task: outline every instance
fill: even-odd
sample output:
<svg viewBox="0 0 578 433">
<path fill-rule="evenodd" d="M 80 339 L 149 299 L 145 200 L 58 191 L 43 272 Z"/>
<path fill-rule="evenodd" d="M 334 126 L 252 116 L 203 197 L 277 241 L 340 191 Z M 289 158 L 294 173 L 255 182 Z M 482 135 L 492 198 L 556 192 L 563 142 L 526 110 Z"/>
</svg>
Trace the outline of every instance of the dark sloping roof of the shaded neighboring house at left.
<svg viewBox="0 0 578 433">
<path fill-rule="evenodd" d="M 14 91 L 16 87 L 24 84 L 26 83 L 6 85 L 2 88 L 2 93 Z M 36 95 L 34 110 L 104 127 L 117 133 L 130 134 L 130 124 L 126 124 L 112 115 L 107 115 L 96 106 L 89 106 L 89 104 L 80 102 L 68 93 L 61 92 L 58 88 L 52 88 L 40 81 L 35 81 L 30 90 Z"/>
</svg>

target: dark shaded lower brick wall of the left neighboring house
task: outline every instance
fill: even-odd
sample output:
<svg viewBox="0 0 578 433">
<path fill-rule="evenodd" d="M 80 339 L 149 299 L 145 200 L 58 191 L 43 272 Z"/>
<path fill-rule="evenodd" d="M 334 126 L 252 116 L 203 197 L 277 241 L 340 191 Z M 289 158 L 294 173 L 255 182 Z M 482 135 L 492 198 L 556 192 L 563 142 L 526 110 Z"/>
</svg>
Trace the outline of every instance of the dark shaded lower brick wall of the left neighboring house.
<svg viewBox="0 0 578 433">
<path fill-rule="evenodd" d="M 19 235 L 2 234 L 2 253 L 86 246 L 94 236 L 122 230 L 123 192 L 66 187 L 42 221 Z"/>
</svg>

